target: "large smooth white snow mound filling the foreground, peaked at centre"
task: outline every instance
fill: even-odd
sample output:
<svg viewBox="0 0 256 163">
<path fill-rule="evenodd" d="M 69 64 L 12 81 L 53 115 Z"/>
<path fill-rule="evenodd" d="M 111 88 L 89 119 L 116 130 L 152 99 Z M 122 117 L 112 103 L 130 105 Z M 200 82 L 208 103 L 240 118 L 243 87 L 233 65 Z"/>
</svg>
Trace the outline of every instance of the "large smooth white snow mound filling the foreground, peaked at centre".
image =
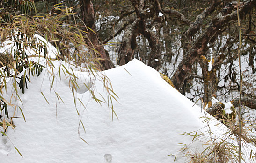
<svg viewBox="0 0 256 163">
<path fill-rule="evenodd" d="M 102 72 L 110 78 L 119 97 L 118 102 L 114 102 L 118 119 L 114 116 L 113 120 L 112 110 L 107 104 L 90 100 L 89 91 L 75 94 L 76 99 L 86 105 L 84 109 L 76 100 L 78 115 L 68 82 L 56 75 L 53 88 L 64 101 L 59 103 L 55 92 L 50 91 L 52 77 L 46 77 L 46 72 L 44 69 L 39 77 L 31 78 L 29 89 L 20 94 L 23 106 L 18 103 L 26 122 L 19 112 L 17 116 L 21 118 L 14 119 L 15 129 L 7 130 L 9 139 L 0 136 L 0 162 L 171 163 L 174 156 L 167 155 L 179 154 L 178 143 L 190 144 L 193 138 L 179 134 L 208 129 L 204 128 L 204 119 L 199 119 L 205 116 L 201 108 L 193 106 L 193 102 L 165 82 L 157 71 L 136 59 Z M 9 86 L 11 84 L 10 81 Z M 96 80 L 95 88 L 96 96 L 99 93 L 104 96 L 101 82 Z M 5 97 L 10 97 L 11 92 Z M 86 133 L 81 125 L 79 128 L 80 120 Z M 210 126 L 216 135 L 227 130 L 214 120 Z M 204 143 L 192 143 L 190 149 L 202 151 Z M 175 163 L 184 162 L 187 158 L 178 156 Z"/>
</svg>

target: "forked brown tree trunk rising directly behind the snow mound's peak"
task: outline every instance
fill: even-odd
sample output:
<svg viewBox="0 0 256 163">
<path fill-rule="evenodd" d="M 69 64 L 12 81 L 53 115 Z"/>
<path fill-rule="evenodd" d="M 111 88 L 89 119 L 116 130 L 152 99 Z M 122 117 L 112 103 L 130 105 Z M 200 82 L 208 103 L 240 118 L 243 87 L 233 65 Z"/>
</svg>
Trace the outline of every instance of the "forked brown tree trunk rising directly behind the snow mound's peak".
<svg viewBox="0 0 256 163">
<path fill-rule="evenodd" d="M 148 57 L 148 66 L 158 70 L 161 65 L 161 42 L 159 31 L 164 16 L 159 16 L 163 13 L 158 0 L 151 0 L 151 6 L 147 9 L 145 7 L 145 0 L 131 0 L 132 6 L 135 9 L 137 19 L 131 26 L 127 27 L 121 46 L 118 52 L 118 64 L 123 65 L 131 61 L 133 58 L 134 50 L 137 46 L 136 37 L 142 34 L 149 42 L 151 53 Z M 151 26 L 147 24 L 147 18 L 153 17 Z"/>
</svg>

